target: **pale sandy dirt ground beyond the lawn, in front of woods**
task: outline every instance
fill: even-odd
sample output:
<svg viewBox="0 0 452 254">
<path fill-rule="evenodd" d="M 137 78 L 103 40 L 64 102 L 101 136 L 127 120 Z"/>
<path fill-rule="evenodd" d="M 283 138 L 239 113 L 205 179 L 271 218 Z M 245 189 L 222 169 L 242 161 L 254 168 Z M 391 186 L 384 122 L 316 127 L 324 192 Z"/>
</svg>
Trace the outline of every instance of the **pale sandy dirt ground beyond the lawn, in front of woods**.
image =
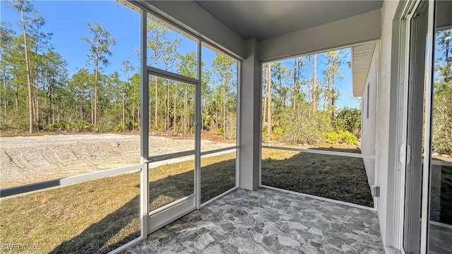
<svg viewBox="0 0 452 254">
<path fill-rule="evenodd" d="M 202 150 L 234 144 L 211 140 Z M 150 137 L 150 155 L 194 150 L 194 140 Z M 140 162 L 139 135 L 76 134 L 0 138 L 0 188 L 58 179 Z"/>
</svg>

